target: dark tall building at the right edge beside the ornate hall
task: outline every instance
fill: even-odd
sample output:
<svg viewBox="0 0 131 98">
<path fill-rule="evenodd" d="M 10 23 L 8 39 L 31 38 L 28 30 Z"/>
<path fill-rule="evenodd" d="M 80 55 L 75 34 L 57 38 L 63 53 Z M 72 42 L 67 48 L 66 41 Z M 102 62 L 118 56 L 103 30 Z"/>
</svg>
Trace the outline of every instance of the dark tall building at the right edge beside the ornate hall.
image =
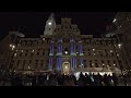
<svg viewBox="0 0 131 98">
<path fill-rule="evenodd" d="M 122 44 L 127 70 L 131 70 L 131 12 L 118 12 L 115 16 L 116 34 Z"/>
</svg>

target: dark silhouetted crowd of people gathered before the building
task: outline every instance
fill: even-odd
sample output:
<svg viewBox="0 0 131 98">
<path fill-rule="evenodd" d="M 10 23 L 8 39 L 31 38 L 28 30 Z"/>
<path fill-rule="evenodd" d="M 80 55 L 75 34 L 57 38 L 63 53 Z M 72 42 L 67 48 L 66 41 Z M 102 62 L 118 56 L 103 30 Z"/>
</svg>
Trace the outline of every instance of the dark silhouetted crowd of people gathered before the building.
<svg viewBox="0 0 131 98">
<path fill-rule="evenodd" d="M 5 79 L 2 78 L 3 84 Z M 95 75 L 82 72 L 79 78 L 73 74 L 45 73 L 39 75 L 14 74 L 9 79 L 11 86 L 119 86 L 121 81 L 123 81 L 122 75 L 117 76 L 115 73 L 102 76 L 99 73 Z"/>
</svg>

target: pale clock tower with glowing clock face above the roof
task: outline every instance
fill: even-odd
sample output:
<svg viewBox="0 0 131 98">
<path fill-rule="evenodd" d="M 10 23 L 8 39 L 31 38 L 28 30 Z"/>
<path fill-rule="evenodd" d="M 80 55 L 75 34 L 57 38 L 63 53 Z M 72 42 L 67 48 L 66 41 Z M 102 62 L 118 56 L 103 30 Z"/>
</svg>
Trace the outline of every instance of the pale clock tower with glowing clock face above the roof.
<svg viewBox="0 0 131 98">
<path fill-rule="evenodd" d="M 46 22 L 44 35 L 52 35 L 55 28 L 56 28 L 55 14 L 51 13 Z"/>
</svg>

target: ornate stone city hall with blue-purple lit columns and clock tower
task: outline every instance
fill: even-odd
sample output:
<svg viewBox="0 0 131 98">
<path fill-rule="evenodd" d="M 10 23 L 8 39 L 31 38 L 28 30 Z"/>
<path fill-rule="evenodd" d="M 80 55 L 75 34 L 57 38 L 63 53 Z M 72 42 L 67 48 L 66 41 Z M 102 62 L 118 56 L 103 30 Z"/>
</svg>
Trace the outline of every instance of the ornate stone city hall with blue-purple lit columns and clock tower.
<svg viewBox="0 0 131 98">
<path fill-rule="evenodd" d="M 71 19 L 61 19 L 61 24 L 57 24 L 53 14 L 47 20 L 44 34 L 38 38 L 10 32 L 0 45 L 1 71 L 103 74 L 126 70 L 121 46 L 116 38 L 81 35 L 81 29 Z"/>
</svg>

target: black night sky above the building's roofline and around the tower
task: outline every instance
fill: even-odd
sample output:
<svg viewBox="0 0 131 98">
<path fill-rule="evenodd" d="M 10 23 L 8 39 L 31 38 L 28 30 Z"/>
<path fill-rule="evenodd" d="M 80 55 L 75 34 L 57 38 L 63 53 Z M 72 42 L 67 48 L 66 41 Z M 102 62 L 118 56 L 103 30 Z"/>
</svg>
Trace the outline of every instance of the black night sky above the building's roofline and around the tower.
<svg viewBox="0 0 131 98">
<path fill-rule="evenodd" d="M 0 39 L 5 37 L 12 27 L 25 26 L 25 35 L 34 37 L 43 35 L 45 23 L 51 12 L 1 12 Z M 56 22 L 61 17 L 72 17 L 81 34 L 100 35 L 110 24 L 116 12 L 55 12 Z"/>
</svg>

